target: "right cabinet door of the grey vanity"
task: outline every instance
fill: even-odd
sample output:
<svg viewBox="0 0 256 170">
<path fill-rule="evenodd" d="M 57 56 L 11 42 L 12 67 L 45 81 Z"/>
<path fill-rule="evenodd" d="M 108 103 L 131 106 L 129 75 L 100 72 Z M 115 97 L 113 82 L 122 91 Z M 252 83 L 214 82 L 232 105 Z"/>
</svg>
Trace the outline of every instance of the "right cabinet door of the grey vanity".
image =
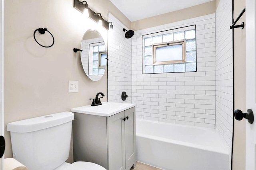
<svg viewBox="0 0 256 170">
<path fill-rule="evenodd" d="M 126 170 L 135 166 L 135 107 L 132 107 L 124 112 L 124 116 L 128 117 L 124 122 L 125 127 L 125 162 Z"/>
</svg>

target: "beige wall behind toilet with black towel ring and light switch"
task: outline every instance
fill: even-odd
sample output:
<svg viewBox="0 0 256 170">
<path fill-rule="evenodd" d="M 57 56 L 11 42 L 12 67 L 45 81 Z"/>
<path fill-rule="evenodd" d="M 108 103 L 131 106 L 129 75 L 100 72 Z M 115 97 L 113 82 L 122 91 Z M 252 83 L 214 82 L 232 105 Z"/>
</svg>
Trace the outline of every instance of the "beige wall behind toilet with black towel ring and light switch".
<svg viewBox="0 0 256 170">
<path fill-rule="evenodd" d="M 6 158 L 12 157 L 12 121 L 70 111 L 91 104 L 97 92 L 107 100 L 107 74 L 91 81 L 82 68 L 79 48 L 90 24 L 73 8 L 72 0 L 6 0 L 4 18 L 4 119 Z M 34 31 L 46 27 L 54 35 L 50 48 L 39 46 Z M 38 36 L 39 37 L 39 36 Z M 52 43 L 52 38 L 42 40 Z M 40 38 L 38 39 L 40 41 Z M 79 81 L 79 92 L 68 93 L 68 80 Z M 68 162 L 72 162 L 72 150 Z"/>
</svg>

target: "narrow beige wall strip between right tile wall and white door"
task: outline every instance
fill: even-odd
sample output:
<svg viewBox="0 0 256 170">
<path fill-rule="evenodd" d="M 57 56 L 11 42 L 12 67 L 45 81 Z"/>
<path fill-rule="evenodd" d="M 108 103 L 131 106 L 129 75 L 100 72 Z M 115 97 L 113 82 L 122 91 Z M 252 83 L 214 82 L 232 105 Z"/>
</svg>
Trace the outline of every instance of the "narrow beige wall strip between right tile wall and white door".
<svg viewBox="0 0 256 170">
<path fill-rule="evenodd" d="M 234 20 L 245 7 L 245 0 L 234 0 Z M 245 13 L 236 25 L 245 22 Z M 246 112 L 246 29 L 234 29 L 234 105 Z M 234 121 L 233 170 L 245 170 L 245 123 Z"/>
</svg>

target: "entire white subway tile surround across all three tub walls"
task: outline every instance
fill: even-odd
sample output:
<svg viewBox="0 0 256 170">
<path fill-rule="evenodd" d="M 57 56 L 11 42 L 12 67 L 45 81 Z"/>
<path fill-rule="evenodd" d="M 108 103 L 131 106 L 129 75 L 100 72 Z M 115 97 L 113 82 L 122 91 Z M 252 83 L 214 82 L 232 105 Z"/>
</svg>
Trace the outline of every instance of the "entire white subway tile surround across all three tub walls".
<svg viewBox="0 0 256 170">
<path fill-rule="evenodd" d="M 142 29 L 135 31 L 131 39 L 125 39 L 124 25 L 111 14 L 109 21 L 114 25 L 108 39 L 109 101 L 123 102 L 121 93 L 126 91 L 129 96 L 126 102 L 136 104 L 136 118 L 216 126 L 231 162 L 232 1 L 220 1 L 216 18 L 215 14 L 209 14 Z M 142 74 L 142 35 L 193 24 L 196 25 L 197 72 Z"/>
</svg>

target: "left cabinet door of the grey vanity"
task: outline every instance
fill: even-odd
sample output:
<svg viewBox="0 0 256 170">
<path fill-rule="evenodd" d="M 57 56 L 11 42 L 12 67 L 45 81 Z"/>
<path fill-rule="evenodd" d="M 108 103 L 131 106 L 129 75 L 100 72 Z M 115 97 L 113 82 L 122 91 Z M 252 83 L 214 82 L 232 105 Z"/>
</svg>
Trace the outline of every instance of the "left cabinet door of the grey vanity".
<svg viewBox="0 0 256 170">
<path fill-rule="evenodd" d="M 125 170 L 124 111 L 108 117 L 108 170 Z"/>
</svg>

